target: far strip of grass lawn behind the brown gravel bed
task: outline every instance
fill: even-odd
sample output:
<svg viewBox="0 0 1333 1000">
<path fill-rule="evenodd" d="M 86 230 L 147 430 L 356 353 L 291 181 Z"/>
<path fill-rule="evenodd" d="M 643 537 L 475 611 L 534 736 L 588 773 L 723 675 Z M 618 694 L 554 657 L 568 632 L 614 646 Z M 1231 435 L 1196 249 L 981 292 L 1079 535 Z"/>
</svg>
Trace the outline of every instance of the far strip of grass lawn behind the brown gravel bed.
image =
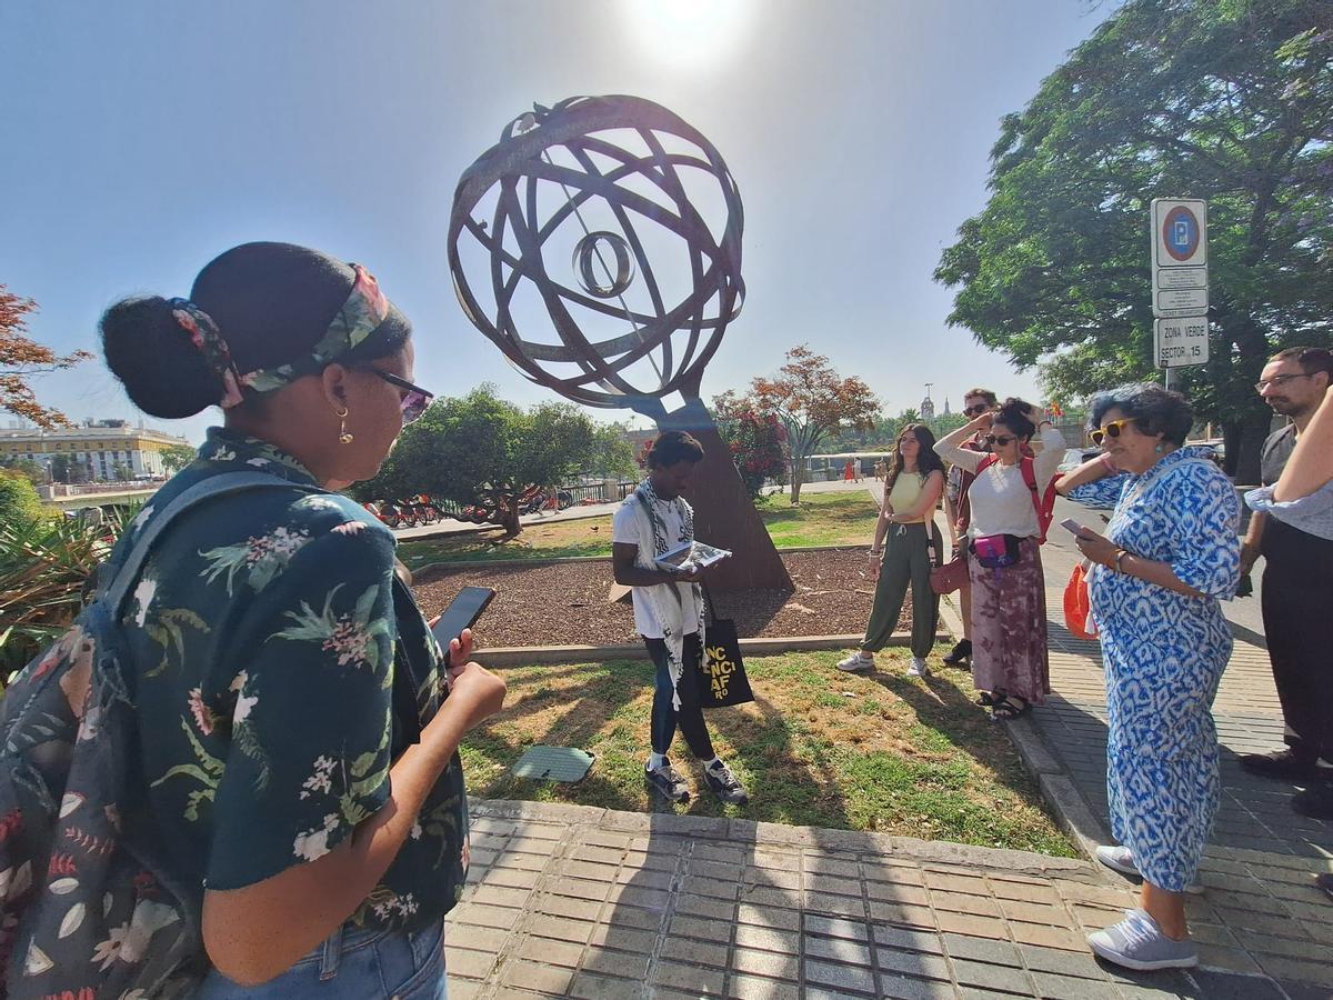
<svg viewBox="0 0 1333 1000">
<path fill-rule="evenodd" d="M 874 501 L 869 493 L 806 493 L 800 507 L 786 496 L 762 504 L 760 516 L 778 548 L 792 545 L 869 544 L 874 533 Z M 399 543 L 399 559 L 409 569 L 431 563 L 465 563 L 483 559 L 561 559 L 609 556 L 611 517 L 525 525 L 516 539 L 501 528 L 468 535 L 445 535 L 423 541 Z"/>
</svg>

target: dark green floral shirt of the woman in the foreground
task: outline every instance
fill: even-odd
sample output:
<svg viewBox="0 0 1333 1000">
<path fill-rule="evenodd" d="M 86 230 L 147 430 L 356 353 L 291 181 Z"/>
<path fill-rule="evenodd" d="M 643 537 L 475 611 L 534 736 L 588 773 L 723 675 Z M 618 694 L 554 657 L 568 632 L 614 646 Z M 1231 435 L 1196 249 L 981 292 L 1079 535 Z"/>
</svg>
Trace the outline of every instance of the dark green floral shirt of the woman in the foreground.
<svg viewBox="0 0 1333 1000">
<path fill-rule="evenodd" d="M 213 428 L 129 540 L 187 487 L 233 471 L 315 483 L 291 456 Z M 185 884 L 235 889 L 313 861 L 388 800 L 391 761 L 439 709 L 443 663 L 393 549 L 355 501 L 295 488 L 207 503 L 159 540 L 123 623 L 141 720 L 131 781 Z M 455 755 L 353 921 L 413 928 L 448 912 L 467 827 Z"/>
</svg>

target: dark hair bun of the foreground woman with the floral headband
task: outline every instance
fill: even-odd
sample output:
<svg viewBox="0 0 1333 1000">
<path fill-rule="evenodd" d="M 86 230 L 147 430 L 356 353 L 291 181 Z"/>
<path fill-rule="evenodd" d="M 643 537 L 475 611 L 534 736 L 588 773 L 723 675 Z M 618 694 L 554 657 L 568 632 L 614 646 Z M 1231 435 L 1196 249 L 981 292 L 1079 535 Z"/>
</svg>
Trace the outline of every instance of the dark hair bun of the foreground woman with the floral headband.
<svg viewBox="0 0 1333 1000">
<path fill-rule="evenodd" d="M 223 397 L 223 383 L 161 296 L 121 299 L 101 316 L 101 349 L 136 407 L 168 420 Z"/>
</svg>

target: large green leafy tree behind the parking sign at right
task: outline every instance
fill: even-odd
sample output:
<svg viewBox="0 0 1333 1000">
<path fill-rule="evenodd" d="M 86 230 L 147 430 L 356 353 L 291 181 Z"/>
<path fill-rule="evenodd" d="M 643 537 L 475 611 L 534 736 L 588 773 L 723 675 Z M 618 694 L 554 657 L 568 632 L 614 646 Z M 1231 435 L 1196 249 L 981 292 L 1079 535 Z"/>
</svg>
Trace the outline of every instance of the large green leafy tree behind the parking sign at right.
<svg viewBox="0 0 1333 1000">
<path fill-rule="evenodd" d="M 1252 480 L 1265 360 L 1333 341 L 1330 25 L 1325 0 L 1129 0 L 1004 119 L 936 271 L 949 321 L 1041 364 L 1053 399 L 1160 377 L 1149 203 L 1208 199 L 1210 360 L 1172 381 Z"/>
</svg>

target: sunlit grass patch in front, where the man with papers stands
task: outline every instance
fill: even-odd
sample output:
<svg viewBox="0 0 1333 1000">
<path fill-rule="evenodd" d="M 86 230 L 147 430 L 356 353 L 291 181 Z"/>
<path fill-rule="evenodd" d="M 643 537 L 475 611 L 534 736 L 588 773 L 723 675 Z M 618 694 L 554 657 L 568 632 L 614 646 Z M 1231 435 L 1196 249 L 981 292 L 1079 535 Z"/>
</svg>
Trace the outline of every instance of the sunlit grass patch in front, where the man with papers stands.
<svg viewBox="0 0 1333 1000">
<path fill-rule="evenodd" d="M 750 792 L 746 807 L 720 805 L 708 793 L 677 736 L 673 760 L 696 789 L 689 813 L 1076 856 L 1013 745 L 970 703 L 965 673 L 909 680 L 902 651 L 881 653 L 869 676 L 849 676 L 834 668 L 838 657 L 750 660 L 758 700 L 708 713 L 717 752 Z M 504 712 L 463 747 L 472 795 L 651 809 L 643 779 L 648 663 L 513 668 L 504 676 Z M 509 765 L 539 743 L 580 747 L 597 760 L 579 784 L 513 777 Z"/>
</svg>

